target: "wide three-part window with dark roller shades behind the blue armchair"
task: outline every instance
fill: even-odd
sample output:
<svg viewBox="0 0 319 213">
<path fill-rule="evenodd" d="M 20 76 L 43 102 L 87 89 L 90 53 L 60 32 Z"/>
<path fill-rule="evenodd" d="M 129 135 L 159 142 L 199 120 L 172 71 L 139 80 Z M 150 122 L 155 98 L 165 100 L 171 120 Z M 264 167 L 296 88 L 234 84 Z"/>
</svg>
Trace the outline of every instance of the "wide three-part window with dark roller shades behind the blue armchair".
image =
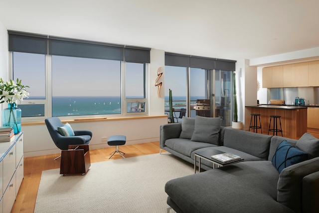
<svg viewBox="0 0 319 213">
<path fill-rule="evenodd" d="M 147 114 L 150 48 L 8 31 L 23 120 Z"/>
</svg>

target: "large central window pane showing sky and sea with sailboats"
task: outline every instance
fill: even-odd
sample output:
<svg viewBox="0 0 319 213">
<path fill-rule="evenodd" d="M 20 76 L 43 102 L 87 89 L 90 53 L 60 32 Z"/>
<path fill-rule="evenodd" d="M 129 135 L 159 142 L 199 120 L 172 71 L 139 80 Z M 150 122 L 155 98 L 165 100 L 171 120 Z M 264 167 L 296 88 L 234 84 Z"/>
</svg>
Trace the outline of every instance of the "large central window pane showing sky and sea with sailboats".
<svg viewBox="0 0 319 213">
<path fill-rule="evenodd" d="M 105 114 L 121 114 L 121 62 L 52 55 L 52 116 Z"/>
</svg>

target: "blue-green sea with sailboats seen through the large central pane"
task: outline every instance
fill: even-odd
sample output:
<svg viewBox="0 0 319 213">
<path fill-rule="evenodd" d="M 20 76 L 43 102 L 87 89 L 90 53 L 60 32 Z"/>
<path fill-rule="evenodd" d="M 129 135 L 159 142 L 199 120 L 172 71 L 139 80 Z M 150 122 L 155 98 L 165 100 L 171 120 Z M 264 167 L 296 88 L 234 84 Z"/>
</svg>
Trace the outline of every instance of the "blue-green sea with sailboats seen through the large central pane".
<svg viewBox="0 0 319 213">
<path fill-rule="evenodd" d="M 52 116 L 121 114 L 120 97 L 52 97 Z"/>
</svg>

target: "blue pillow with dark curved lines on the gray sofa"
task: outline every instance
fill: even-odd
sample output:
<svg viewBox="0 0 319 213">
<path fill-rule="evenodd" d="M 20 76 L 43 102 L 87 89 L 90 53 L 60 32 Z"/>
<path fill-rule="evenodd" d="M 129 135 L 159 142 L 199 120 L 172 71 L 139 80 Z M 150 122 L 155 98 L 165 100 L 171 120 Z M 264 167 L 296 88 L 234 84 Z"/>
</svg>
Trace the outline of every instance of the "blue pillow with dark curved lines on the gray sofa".
<svg viewBox="0 0 319 213">
<path fill-rule="evenodd" d="M 308 154 L 283 140 L 277 147 L 272 163 L 279 173 L 286 167 L 308 160 Z"/>
</svg>

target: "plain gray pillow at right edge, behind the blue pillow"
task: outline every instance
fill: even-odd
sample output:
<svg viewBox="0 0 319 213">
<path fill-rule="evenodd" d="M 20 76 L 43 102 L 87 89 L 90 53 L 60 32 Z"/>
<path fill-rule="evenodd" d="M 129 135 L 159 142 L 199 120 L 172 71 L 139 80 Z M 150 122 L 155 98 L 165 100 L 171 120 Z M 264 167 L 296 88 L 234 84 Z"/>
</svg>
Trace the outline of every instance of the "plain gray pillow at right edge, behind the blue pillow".
<svg viewBox="0 0 319 213">
<path fill-rule="evenodd" d="M 308 158 L 319 157 L 319 139 L 310 133 L 305 133 L 296 143 L 296 148 L 307 152 Z"/>
</svg>

